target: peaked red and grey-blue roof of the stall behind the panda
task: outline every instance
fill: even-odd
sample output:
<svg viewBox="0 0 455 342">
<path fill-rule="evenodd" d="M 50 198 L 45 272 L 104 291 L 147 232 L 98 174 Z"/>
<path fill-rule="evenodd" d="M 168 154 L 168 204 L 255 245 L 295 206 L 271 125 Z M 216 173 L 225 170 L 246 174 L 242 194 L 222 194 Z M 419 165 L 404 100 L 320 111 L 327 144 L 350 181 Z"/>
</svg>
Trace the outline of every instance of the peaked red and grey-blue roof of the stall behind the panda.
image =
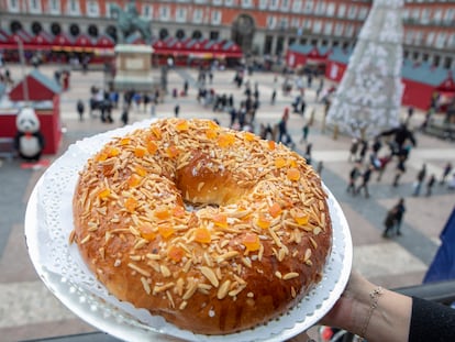
<svg viewBox="0 0 455 342">
<path fill-rule="evenodd" d="M 29 98 L 25 97 L 24 82 Z M 33 69 L 21 82 L 11 89 L 9 97 L 11 101 L 46 101 L 54 99 L 55 95 L 60 93 L 60 87 L 54 80 L 43 75 L 38 69 Z"/>
</svg>

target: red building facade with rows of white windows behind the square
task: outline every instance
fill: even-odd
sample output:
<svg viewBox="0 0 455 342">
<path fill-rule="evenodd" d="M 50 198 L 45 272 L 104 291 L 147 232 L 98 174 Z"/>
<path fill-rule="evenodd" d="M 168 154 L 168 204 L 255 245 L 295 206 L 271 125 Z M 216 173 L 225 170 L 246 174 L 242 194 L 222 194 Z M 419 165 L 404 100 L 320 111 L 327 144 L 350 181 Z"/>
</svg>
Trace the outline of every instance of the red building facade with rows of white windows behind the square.
<svg viewBox="0 0 455 342">
<path fill-rule="evenodd" d="M 116 35 L 111 3 L 127 0 L 0 0 L 0 27 L 37 34 Z M 155 37 L 233 40 L 245 53 L 282 56 L 287 46 L 353 47 L 371 1 L 136 0 Z M 455 1 L 406 0 L 404 58 L 455 68 Z"/>
</svg>

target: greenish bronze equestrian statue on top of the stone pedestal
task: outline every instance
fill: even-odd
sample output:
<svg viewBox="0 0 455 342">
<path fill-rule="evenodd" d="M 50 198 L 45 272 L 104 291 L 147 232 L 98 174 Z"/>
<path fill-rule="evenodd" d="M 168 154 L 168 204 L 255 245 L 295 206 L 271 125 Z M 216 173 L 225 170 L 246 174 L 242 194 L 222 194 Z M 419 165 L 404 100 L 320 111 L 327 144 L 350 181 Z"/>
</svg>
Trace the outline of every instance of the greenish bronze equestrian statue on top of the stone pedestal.
<svg viewBox="0 0 455 342">
<path fill-rule="evenodd" d="M 125 10 L 115 3 L 111 3 L 110 13 L 116 18 L 120 43 L 125 43 L 126 38 L 136 31 L 141 33 L 145 43 L 149 44 L 152 42 L 151 22 L 138 15 L 134 0 L 127 2 Z"/>
</svg>

